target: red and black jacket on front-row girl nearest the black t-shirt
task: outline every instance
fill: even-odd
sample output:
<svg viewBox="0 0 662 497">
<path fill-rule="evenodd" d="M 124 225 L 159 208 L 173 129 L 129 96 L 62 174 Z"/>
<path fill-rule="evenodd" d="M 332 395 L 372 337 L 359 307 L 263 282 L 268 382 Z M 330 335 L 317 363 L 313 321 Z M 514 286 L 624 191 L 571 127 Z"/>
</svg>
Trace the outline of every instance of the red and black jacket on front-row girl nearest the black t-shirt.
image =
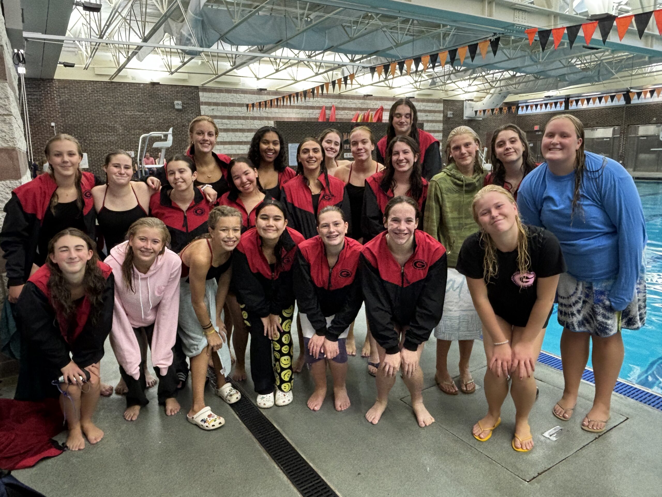
<svg viewBox="0 0 662 497">
<path fill-rule="evenodd" d="M 446 296 L 446 249 L 424 231 L 414 232 L 414 254 L 401 266 L 386 232 L 363 246 L 361 288 L 370 331 L 387 354 L 399 352 L 394 324 L 409 329 L 404 348 L 415 351 L 442 319 Z"/>
</svg>

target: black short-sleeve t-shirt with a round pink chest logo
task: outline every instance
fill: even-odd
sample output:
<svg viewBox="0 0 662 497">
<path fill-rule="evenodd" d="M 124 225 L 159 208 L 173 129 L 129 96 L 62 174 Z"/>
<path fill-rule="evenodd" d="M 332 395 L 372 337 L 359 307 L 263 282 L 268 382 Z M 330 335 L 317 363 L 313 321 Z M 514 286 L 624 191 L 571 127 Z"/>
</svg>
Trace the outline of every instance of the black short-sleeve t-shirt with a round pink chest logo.
<svg viewBox="0 0 662 497">
<path fill-rule="evenodd" d="M 528 272 L 524 276 L 520 275 L 517 250 L 496 250 L 497 274 L 487 284 L 487 298 L 495 314 L 511 325 L 522 327 L 526 326 L 538 298 L 538 278 L 549 278 L 566 270 L 561 246 L 551 231 L 527 225 L 526 233 L 531 258 Z M 480 233 L 467 237 L 459 250 L 455 267 L 457 271 L 467 278 L 483 279 L 484 247 Z"/>
</svg>

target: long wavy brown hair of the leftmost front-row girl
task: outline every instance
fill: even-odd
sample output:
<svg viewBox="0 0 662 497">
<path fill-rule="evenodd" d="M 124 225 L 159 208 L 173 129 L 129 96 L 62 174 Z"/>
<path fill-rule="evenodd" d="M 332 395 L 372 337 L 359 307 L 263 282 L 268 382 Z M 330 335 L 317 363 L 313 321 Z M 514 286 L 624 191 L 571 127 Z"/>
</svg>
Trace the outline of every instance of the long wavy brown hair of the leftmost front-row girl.
<svg viewBox="0 0 662 497">
<path fill-rule="evenodd" d="M 85 275 L 83 276 L 83 286 L 85 287 L 85 296 L 89 299 L 91 304 L 90 317 L 92 324 L 97 324 L 99 316 L 101 315 L 101 307 L 103 300 L 103 292 L 106 288 L 106 279 L 103 277 L 101 269 L 97 265 L 99 256 L 97 256 L 97 245 L 85 233 L 75 228 L 66 228 L 55 235 L 50 242 L 48 242 L 48 256 L 46 256 L 46 265 L 50 269 L 50 278 L 46 284 L 50 292 L 50 302 L 56 309 L 58 314 L 64 317 L 65 322 L 60 323 L 68 336 L 72 325 L 75 325 L 76 318 L 76 302 L 71 298 L 71 288 L 69 282 L 62 274 L 60 266 L 53 262 L 50 256 L 55 254 L 55 244 L 58 243 L 62 237 L 70 235 L 77 237 L 85 242 L 87 250 L 92 250 L 92 257 L 85 264 Z"/>
</svg>

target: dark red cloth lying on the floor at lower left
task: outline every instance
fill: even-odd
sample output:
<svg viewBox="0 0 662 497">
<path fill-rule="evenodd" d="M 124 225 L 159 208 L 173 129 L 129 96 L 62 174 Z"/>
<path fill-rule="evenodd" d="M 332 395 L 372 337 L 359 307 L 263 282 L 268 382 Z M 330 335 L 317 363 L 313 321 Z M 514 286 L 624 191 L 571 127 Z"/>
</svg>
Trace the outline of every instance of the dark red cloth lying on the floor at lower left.
<svg viewBox="0 0 662 497">
<path fill-rule="evenodd" d="M 63 422 L 58 399 L 0 399 L 0 469 L 29 468 L 62 454 L 51 439 L 62 431 Z"/>
</svg>

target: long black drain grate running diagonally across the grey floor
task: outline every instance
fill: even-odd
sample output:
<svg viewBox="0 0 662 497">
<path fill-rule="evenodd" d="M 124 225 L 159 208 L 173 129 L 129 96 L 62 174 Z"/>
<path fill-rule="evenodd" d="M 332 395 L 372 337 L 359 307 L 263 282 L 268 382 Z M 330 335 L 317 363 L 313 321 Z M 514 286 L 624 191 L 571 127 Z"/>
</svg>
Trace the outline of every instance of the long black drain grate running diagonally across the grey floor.
<svg viewBox="0 0 662 497">
<path fill-rule="evenodd" d="M 230 407 L 301 495 L 338 497 L 324 478 L 303 459 L 299 451 L 283 437 L 269 418 L 261 413 L 260 408 L 248 400 L 248 394 L 244 389 L 235 382 L 232 382 L 232 386 L 242 392 L 242 398 Z"/>
</svg>

